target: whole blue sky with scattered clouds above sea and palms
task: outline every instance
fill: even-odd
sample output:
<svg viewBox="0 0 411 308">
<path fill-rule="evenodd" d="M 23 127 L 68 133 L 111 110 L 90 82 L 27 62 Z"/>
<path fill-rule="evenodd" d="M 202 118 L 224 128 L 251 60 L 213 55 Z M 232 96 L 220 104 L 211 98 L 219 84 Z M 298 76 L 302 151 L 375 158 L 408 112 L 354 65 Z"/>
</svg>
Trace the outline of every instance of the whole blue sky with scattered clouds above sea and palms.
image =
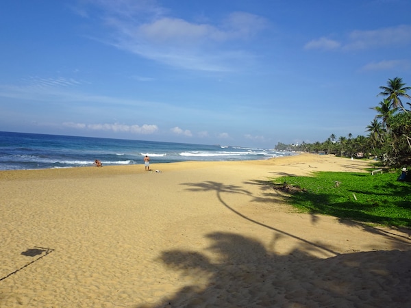
<svg viewBox="0 0 411 308">
<path fill-rule="evenodd" d="M 0 131 L 273 148 L 366 136 L 409 0 L 6 0 Z"/>
</svg>

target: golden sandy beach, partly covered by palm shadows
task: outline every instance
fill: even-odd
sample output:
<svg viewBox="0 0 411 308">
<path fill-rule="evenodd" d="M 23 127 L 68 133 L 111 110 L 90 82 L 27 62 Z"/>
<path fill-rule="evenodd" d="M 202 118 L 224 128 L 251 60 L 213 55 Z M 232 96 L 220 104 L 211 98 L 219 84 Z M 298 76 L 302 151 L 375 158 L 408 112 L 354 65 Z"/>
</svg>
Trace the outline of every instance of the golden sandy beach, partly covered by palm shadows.
<svg viewBox="0 0 411 308">
<path fill-rule="evenodd" d="M 301 214 L 266 183 L 366 166 L 2 171 L 0 307 L 411 307 L 410 230 Z"/>
</svg>

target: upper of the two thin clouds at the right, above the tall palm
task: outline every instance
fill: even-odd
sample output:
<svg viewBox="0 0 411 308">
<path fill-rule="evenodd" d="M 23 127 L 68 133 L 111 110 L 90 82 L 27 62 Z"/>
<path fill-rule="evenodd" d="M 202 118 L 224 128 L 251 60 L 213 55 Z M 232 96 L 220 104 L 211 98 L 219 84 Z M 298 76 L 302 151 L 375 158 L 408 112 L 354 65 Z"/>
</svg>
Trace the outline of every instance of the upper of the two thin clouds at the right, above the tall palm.
<svg viewBox="0 0 411 308">
<path fill-rule="evenodd" d="M 406 46 L 411 43 L 411 25 L 399 25 L 397 27 L 386 27 L 374 30 L 355 30 L 343 40 L 334 40 L 321 37 L 310 40 L 304 49 L 320 50 L 363 50 L 379 47 Z"/>
</svg>

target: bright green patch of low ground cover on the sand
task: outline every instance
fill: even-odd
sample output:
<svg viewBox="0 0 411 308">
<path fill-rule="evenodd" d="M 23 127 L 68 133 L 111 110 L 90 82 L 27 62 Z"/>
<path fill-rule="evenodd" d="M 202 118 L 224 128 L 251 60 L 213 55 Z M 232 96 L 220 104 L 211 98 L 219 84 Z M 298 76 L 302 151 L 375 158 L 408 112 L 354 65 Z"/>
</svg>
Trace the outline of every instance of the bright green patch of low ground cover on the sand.
<svg viewBox="0 0 411 308">
<path fill-rule="evenodd" d="M 397 181 L 399 173 L 316 172 L 312 177 L 280 177 L 275 188 L 302 190 L 290 203 L 304 212 L 361 222 L 411 227 L 411 183 Z M 337 183 L 338 182 L 338 183 Z"/>
</svg>

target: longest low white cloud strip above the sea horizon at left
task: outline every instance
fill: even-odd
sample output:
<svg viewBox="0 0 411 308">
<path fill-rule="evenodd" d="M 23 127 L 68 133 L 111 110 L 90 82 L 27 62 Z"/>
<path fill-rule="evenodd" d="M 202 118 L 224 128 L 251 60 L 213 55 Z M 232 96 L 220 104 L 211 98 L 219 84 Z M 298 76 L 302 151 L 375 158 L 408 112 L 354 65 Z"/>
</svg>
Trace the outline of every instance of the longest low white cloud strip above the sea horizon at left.
<svg viewBox="0 0 411 308">
<path fill-rule="evenodd" d="M 114 131 L 114 132 L 129 132 L 129 133 L 136 133 L 142 135 L 148 135 L 151 133 L 155 133 L 158 131 L 157 125 L 123 125 L 119 123 L 114 124 L 84 124 L 84 123 L 73 123 L 73 122 L 66 122 L 63 123 L 65 127 L 71 127 L 75 129 L 90 129 L 94 131 Z"/>
</svg>

